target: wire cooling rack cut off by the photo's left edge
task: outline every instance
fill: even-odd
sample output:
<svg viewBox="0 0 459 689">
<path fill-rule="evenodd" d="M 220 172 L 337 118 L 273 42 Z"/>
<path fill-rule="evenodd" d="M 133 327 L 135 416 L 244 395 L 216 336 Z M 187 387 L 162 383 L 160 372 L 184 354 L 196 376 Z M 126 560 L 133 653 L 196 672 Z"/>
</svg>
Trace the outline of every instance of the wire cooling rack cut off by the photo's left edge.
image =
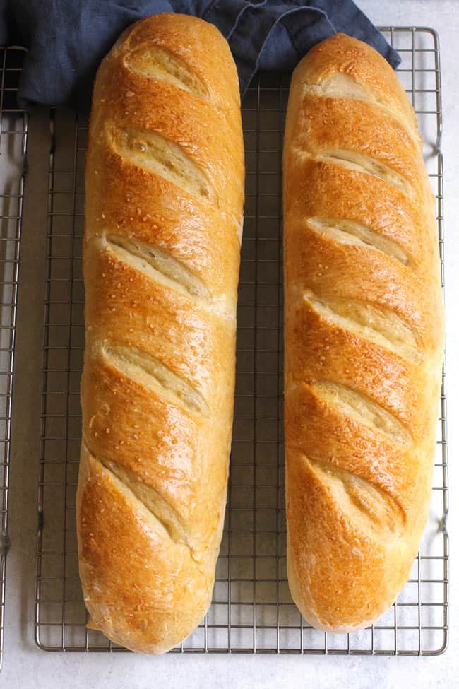
<svg viewBox="0 0 459 689">
<path fill-rule="evenodd" d="M 26 171 L 28 119 L 16 105 L 25 51 L 0 47 L 0 667 L 4 649 L 8 482 L 20 230 Z"/>
</svg>

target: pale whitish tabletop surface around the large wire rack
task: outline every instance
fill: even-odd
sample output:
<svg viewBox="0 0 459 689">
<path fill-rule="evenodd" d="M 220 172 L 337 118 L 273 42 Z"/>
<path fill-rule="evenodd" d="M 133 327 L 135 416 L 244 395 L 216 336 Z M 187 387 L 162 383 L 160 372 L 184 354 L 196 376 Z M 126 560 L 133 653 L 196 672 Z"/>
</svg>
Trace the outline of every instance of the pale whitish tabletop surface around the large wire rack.
<svg viewBox="0 0 459 689">
<path fill-rule="evenodd" d="M 434 658 L 333 657 L 333 656 L 204 656 L 169 655 L 148 658 L 132 654 L 63 654 L 45 653 L 33 640 L 33 571 L 35 558 L 35 504 L 38 446 L 26 438 L 38 437 L 38 419 L 31 400 L 40 391 L 40 343 L 42 294 L 34 290 L 37 262 L 42 245 L 37 232 L 43 234 L 43 209 L 28 207 L 24 237 L 28 232 L 35 242 L 23 242 L 24 269 L 21 273 L 18 323 L 17 366 L 21 372 L 16 385 L 13 418 L 11 466 L 10 534 L 12 548 L 7 564 L 7 607 L 4 669 L 0 686 L 8 689 L 41 687 L 106 687 L 140 689 L 181 687 L 187 689 L 213 685 L 220 687 L 455 687 L 459 684 L 459 469 L 455 461 L 459 450 L 459 326 L 457 300 L 459 293 L 458 141 L 457 117 L 459 97 L 458 35 L 459 6 L 456 0 L 361 0 L 359 5 L 376 24 L 427 25 L 440 36 L 443 79 L 443 153 L 445 158 L 445 234 L 446 234 L 446 305 L 448 354 L 448 418 L 451 485 L 451 635 L 446 654 Z M 32 136 L 40 143 L 40 114 L 35 118 Z M 41 123 L 43 132 L 44 120 Z M 45 142 L 43 142 L 45 144 Z M 46 142 L 47 143 L 47 142 Z M 46 148 L 45 148 L 46 150 Z M 28 184 L 34 188 L 46 185 L 46 158 L 31 161 Z M 41 167 L 40 167 L 41 165 Z M 33 234 L 35 230 L 35 235 Z M 35 271 L 32 267 L 35 265 Z M 35 282 L 34 282 L 35 281 Z M 28 290 L 28 286 L 30 289 Z M 37 293 L 38 291 L 38 293 Z M 24 319 L 24 314 L 27 319 Z M 35 372 L 35 375 L 34 375 Z M 29 375 L 30 374 L 30 375 Z M 457 494 L 457 497 L 455 497 Z"/>
</svg>

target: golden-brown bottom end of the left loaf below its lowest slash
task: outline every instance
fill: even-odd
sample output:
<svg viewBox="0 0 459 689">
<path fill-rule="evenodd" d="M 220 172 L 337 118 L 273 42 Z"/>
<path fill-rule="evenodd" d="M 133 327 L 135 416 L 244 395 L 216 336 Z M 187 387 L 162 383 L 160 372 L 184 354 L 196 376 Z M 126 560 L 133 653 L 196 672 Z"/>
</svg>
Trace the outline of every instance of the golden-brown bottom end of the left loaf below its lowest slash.
<svg viewBox="0 0 459 689">
<path fill-rule="evenodd" d="M 88 626 L 139 652 L 168 651 L 172 640 L 200 622 L 213 576 L 201 572 L 186 544 L 170 541 L 84 444 L 80 482 L 80 576 Z"/>
</svg>

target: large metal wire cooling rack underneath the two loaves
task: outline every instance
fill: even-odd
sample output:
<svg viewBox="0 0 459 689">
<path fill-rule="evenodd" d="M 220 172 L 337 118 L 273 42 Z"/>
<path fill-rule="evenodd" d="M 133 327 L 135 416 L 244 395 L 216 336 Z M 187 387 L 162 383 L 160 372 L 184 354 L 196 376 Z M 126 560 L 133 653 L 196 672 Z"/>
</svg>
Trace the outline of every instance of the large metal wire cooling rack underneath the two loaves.
<svg viewBox="0 0 459 689">
<path fill-rule="evenodd" d="M 428 28 L 384 28 L 427 142 L 438 199 L 443 281 L 439 41 Z M 378 623 L 318 632 L 292 603 L 285 566 L 282 437 L 282 131 L 289 78 L 258 75 L 243 103 L 246 207 L 237 385 L 225 532 L 213 603 L 177 652 L 439 654 L 448 633 L 446 398 L 440 400 L 431 518 L 410 581 Z M 75 493 L 83 357 L 83 165 L 87 122 L 52 112 L 35 629 L 52 651 L 123 651 L 85 628 Z"/>
</svg>

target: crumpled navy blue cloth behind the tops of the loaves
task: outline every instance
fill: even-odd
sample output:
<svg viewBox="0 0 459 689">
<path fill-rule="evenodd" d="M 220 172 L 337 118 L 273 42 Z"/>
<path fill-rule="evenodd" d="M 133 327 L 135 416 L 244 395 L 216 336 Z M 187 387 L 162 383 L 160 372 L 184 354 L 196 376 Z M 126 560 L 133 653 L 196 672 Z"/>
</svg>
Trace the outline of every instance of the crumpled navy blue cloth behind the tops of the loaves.
<svg viewBox="0 0 459 689">
<path fill-rule="evenodd" d="M 291 70 L 319 41 L 342 31 L 395 68 L 398 54 L 352 0 L 0 0 L 0 42 L 23 45 L 18 102 L 90 110 L 97 66 L 126 26 L 160 12 L 201 17 L 227 38 L 241 94 L 257 69 Z"/>
</svg>

